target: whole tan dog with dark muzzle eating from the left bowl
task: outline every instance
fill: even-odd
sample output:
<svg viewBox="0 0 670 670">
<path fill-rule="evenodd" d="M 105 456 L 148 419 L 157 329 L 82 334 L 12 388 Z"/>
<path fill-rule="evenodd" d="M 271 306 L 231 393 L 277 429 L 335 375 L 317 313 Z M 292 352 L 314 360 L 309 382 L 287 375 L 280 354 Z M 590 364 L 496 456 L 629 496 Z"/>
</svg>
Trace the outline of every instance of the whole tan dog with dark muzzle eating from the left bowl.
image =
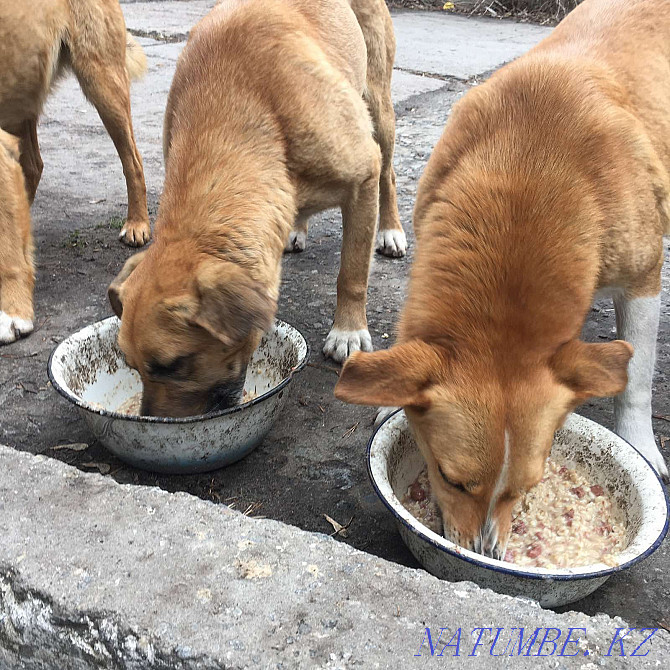
<svg viewBox="0 0 670 670">
<path fill-rule="evenodd" d="M 142 376 L 144 413 L 237 401 L 275 315 L 294 222 L 305 232 L 325 208 L 342 208 L 343 241 L 324 352 L 341 361 L 371 350 L 365 306 L 380 190 L 382 251 L 405 247 L 392 165 L 394 48 L 382 0 L 231 0 L 193 29 L 165 115 L 156 242 L 109 292 L 123 312 L 119 344 Z"/>
</svg>

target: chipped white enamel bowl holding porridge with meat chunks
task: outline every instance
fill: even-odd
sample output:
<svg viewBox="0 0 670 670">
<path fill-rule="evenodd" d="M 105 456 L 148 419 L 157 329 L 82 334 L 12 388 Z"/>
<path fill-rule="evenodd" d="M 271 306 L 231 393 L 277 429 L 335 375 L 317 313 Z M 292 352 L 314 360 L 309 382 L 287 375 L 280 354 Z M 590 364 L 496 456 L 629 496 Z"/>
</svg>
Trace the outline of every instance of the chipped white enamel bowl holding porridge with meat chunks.
<svg viewBox="0 0 670 670">
<path fill-rule="evenodd" d="M 656 472 L 630 444 L 572 414 L 556 433 L 552 455 L 578 465 L 593 484 L 614 497 L 627 517 L 628 546 L 619 565 L 603 563 L 547 570 L 498 561 L 464 549 L 417 521 L 400 502 L 424 466 L 405 414 L 392 414 L 368 444 L 368 471 L 400 535 L 426 570 L 449 581 L 472 581 L 500 593 L 557 607 L 587 596 L 611 575 L 643 560 L 660 546 L 668 530 L 668 500 Z"/>
</svg>

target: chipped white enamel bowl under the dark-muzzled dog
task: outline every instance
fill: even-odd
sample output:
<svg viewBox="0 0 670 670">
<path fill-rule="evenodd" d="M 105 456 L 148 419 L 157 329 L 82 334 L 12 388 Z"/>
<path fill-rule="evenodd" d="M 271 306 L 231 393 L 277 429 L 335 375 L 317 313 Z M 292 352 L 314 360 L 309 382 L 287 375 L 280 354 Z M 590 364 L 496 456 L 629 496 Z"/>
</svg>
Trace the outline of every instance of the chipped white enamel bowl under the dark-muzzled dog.
<svg viewBox="0 0 670 670">
<path fill-rule="evenodd" d="M 111 317 L 63 340 L 49 359 L 49 379 L 107 449 L 153 472 L 207 472 L 246 456 L 272 427 L 293 374 L 307 362 L 303 336 L 277 320 L 247 368 L 244 388 L 258 394 L 254 400 L 179 419 L 119 414 L 100 407 L 118 408 L 142 389 L 117 346 L 119 325 Z"/>
</svg>

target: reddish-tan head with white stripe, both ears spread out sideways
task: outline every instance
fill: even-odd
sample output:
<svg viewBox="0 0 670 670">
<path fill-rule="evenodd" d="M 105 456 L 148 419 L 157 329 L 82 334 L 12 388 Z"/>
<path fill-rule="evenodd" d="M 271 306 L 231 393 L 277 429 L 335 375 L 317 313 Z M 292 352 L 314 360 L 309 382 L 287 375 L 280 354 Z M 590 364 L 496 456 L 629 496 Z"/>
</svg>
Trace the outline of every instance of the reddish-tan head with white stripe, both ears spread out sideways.
<svg viewBox="0 0 670 670">
<path fill-rule="evenodd" d="M 572 340 L 545 360 L 505 362 L 418 340 L 346 362 L 335 395 L 405 408 L 444 535 L 502 558 L 512 509 L 544 473 L 554 433 L 589 397 L 623 391 L 632 347 Z"/>
</svg>

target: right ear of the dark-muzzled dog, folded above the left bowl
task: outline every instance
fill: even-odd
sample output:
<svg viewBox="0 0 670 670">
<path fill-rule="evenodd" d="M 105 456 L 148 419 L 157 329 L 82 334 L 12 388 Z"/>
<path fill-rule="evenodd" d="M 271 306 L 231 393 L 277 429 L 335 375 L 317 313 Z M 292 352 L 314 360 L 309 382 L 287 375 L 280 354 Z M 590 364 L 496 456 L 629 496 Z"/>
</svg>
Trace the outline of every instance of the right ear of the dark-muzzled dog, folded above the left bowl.
<svg viewBox="0 0 670 670">
<path fill-rule="evenodd" d="M 265 331 L 272 324 L 276 301 L 239 265 L 208 261 L 198 270 L 196 286 L 192 321 L 224 344 L 241 342 L 254 328 Z"/>
</svg>

